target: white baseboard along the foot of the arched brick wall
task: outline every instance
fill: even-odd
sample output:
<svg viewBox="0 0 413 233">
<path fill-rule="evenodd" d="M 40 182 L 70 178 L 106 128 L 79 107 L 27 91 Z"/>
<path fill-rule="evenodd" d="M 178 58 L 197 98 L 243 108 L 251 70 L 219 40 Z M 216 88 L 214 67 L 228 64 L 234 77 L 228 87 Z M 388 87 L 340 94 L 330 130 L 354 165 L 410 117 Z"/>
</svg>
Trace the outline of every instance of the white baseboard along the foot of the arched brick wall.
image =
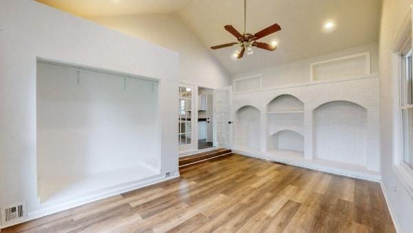
<svg viewBox="0 0 413 233">
<path fill-rule="evenodd" d="M 265 159 L 268 161 L 275 161 L 278 163 L 286 163 L 288 165 L 294 165 L 297 167 L 301 167 L 301 168 L 308 168 L 308 169 L 312 169 L 312 170 L 319 170 L 321 172 L 328 172 L 328 173 L 332 173 L 332 174 L 338 174 L 341 176 L 349 176 L 352 178 L 357 178 L 357 179 L 363 179 L 363 180 L 368 180 L 368 181 L 374 181 L 374 182 L 379 182 L 381 180 L 381 176 L 379 174 L 368 174 L 366 172 L 356 172 L 356 171 L 352 171 L 352 170 L 346 170 L 346 169 L 342 169 L 342 168 L 335 168 L 335 167 L 331 167 L 331 166 L 326 166 L 326 165 L 318 165 L 315 163 L 311 163 L 310 161 L 306 160 L 306 162 L 297 162 L 297 161 L 293 161 L 293 160 L 288 160 L 288 159 L 276 159 L 272 156 L 266 156 L 263 153 L 255 153 L 255 152 L 246 152 L 244 150 L 232 150 L 233 153 L 235 154 L 242 154 L 245 156 L 250 156 L 250 157 L 254 157 L 257 159 Z"/>
</svg>

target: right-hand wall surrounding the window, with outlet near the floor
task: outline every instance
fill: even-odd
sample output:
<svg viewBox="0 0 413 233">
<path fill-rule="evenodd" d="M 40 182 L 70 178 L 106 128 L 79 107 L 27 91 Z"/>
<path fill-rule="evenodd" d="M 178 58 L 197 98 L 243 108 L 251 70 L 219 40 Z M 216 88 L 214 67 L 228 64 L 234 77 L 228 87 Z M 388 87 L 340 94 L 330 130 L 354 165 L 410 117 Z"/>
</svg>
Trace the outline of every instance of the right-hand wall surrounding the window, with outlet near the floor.
<svg viewBox="0 0 413 233">
<path fill-rule="evenodd" d="M 396 222 L 403 232 L 413 229 L 413 199 L 392 169 L 392 45 L 410 10 L 411 0 L 383 0 L 379 38 L 381 177 Z M 394 186 L 398 192 L 394 193 Z"/>
</svg>

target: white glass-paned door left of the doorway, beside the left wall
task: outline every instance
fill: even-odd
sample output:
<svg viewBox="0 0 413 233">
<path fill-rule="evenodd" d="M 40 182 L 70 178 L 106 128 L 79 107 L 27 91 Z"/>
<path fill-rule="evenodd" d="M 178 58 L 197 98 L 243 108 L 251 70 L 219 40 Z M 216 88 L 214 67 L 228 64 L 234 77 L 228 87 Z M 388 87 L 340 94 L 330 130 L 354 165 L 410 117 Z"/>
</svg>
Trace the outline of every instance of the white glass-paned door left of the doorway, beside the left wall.
<svg viewBox="0 0 413 233">
<path fill-rule="evenodd" d="M 193 150 L 194 112 L 193 112 L 193 87 L 179 85 L 179 118 L 178 118 L 178 143 L 180 152 Z"/>
</svg>

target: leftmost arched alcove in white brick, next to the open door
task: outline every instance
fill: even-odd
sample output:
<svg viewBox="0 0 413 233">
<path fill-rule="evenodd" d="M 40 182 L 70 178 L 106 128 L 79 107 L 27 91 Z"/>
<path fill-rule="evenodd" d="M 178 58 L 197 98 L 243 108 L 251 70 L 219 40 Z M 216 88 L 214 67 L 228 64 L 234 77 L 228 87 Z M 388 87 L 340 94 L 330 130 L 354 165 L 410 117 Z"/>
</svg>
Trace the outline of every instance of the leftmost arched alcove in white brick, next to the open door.
<svg viewBox="0 0 413 233">
<path fill-rule="evenodd" d="M 235 148 L 260 150 L 260 110 L 246 105 L 235 112 Z"/>
</svg>

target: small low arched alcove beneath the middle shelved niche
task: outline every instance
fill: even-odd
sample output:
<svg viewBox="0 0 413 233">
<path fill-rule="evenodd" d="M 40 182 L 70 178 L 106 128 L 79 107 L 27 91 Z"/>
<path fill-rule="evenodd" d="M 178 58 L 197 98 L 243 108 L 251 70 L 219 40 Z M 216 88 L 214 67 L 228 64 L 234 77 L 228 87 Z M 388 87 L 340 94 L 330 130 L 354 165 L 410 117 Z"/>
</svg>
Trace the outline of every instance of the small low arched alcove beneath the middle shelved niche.
<svg viewBox="0 0 413 233">
<path fill-rule="evenodd" d="M 269 136 L 268 150 L 304 152 L 304 136 L 293 130 L 281 130 Z"/>
</svg>

